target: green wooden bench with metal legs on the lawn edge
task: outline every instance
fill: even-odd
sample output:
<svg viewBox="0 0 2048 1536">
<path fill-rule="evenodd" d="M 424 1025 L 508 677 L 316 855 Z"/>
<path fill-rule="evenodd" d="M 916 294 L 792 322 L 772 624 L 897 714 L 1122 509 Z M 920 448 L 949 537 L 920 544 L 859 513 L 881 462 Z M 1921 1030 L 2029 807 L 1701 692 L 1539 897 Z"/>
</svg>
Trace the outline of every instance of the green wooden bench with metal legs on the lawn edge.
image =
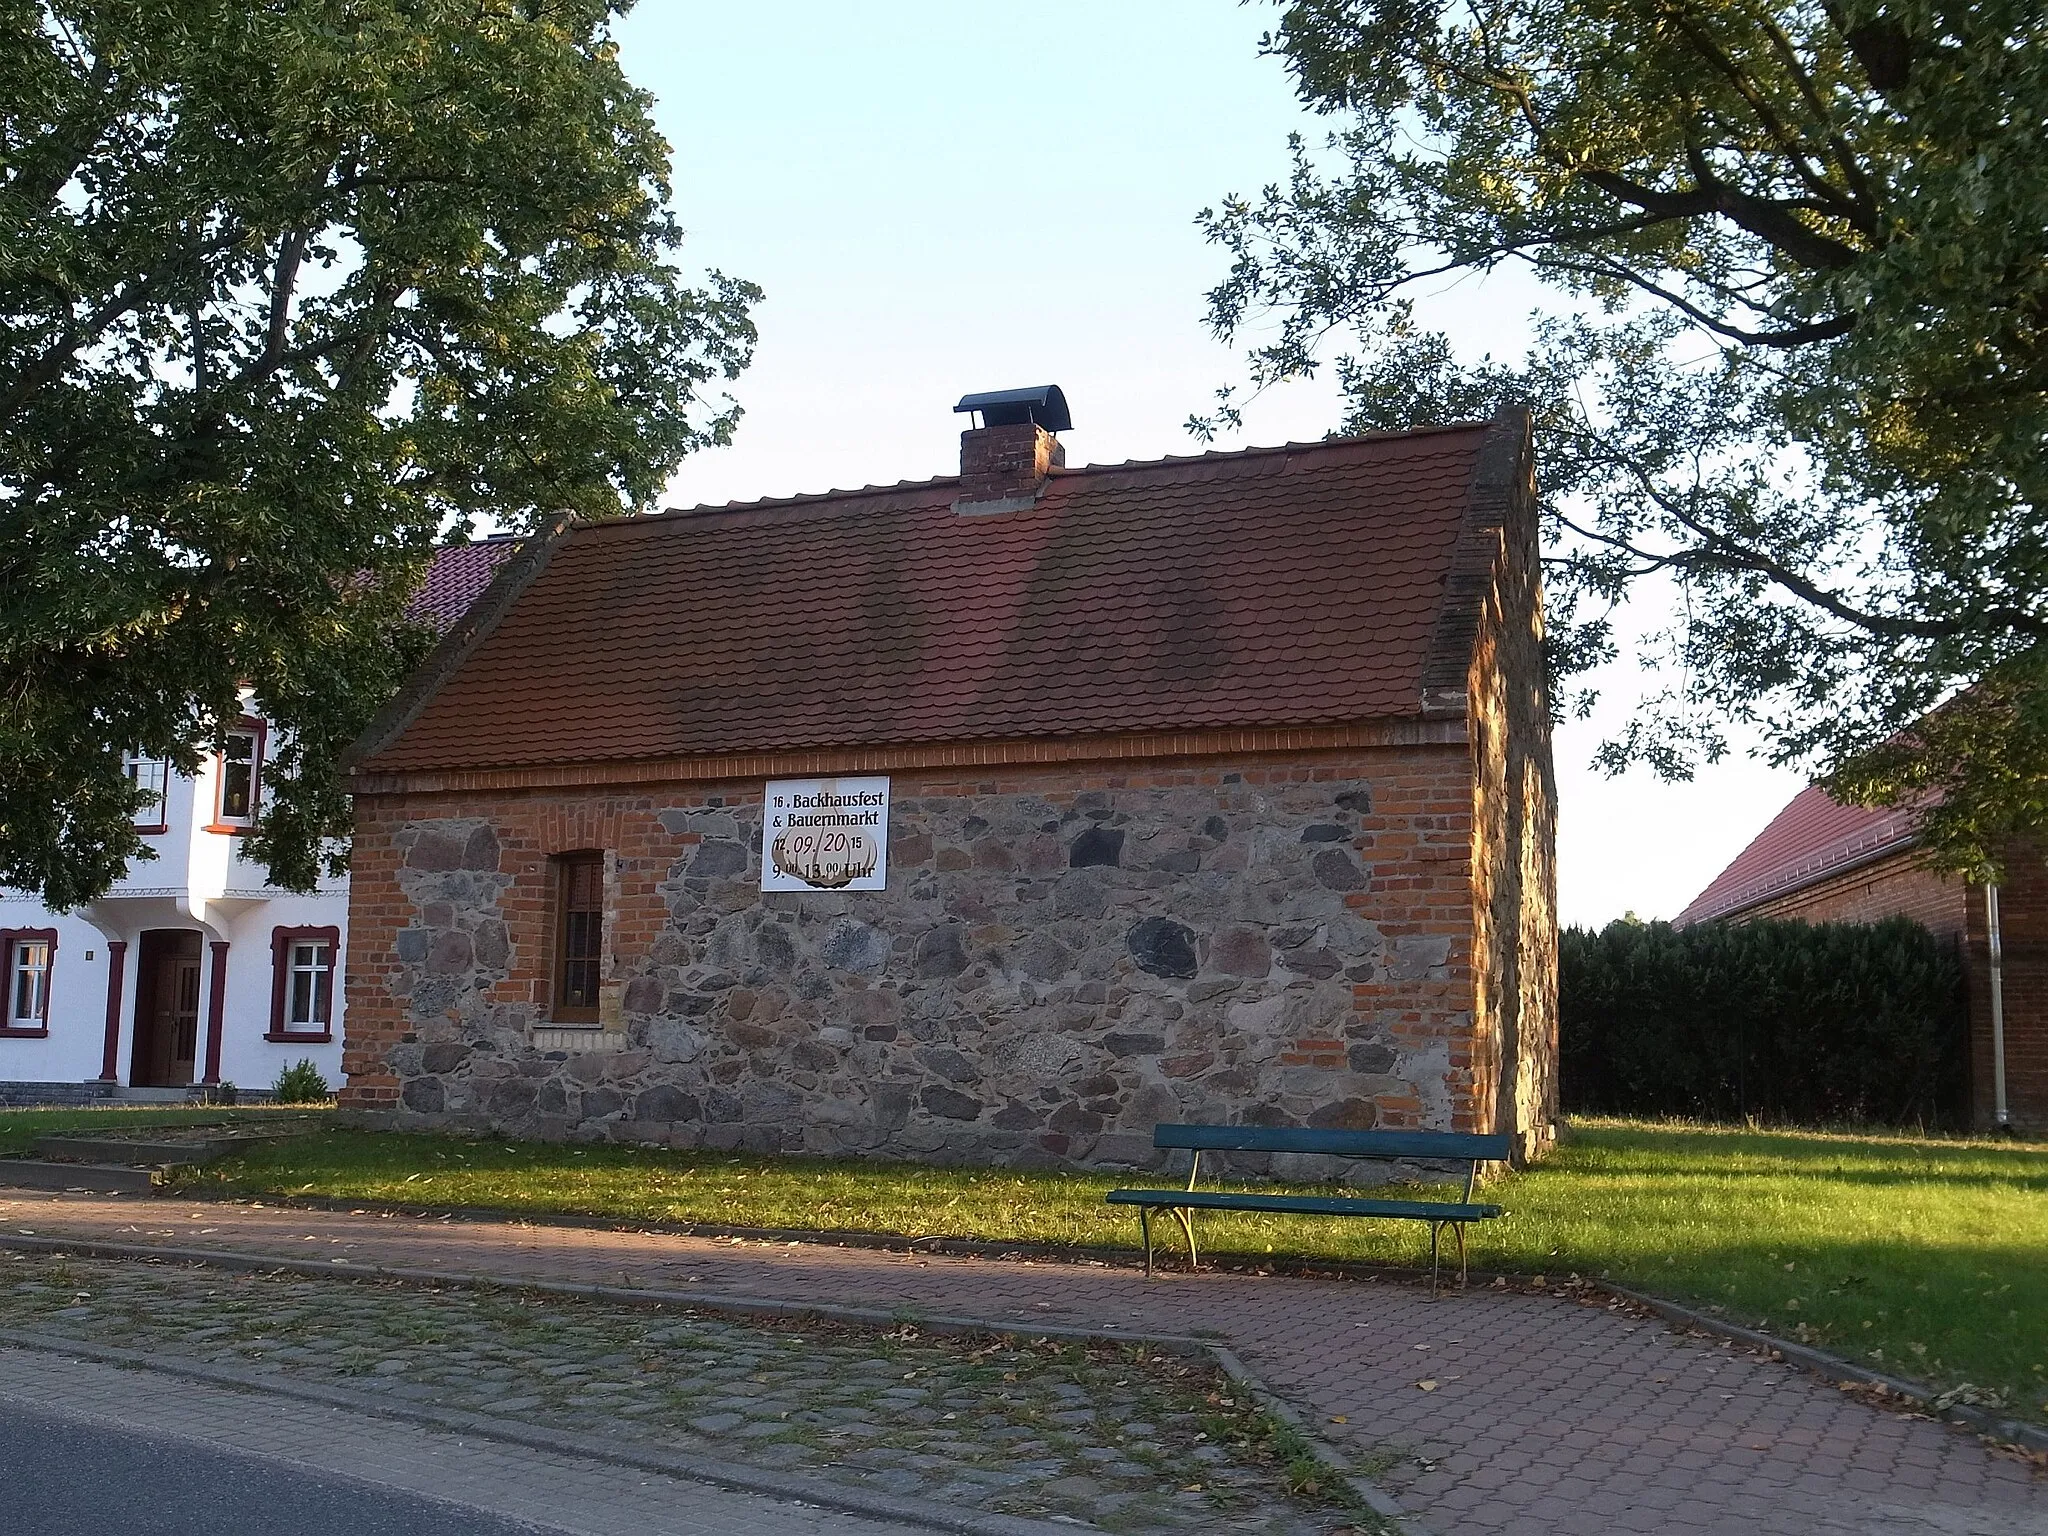
<svg viewBox="0 0 2048 1536">
<path fill-rule="evenodd" d="M 1110 1190 L 1116 1206 L 1139 1208 L 1139 1229 L 1145 1233 L 1145 1274 L 1151 1274 L 1151 1219 L 1171 1210 L 1188 1235 L 1188 1268 L 1196 1266 L 1196 1210 L 1280 1210 L 1298 1217 L 1378 1217 L 1382 1221 L 1430 1223 L 1430 1294 L 1436 1296 L 1438 1239 L 1450 1227 L 1458 1235 L 1458 1284 L 1464 1284 L 1464 1227 L 1473 1221 L 1493 1221 L 1505 1214 L 1501 1206 L 1475 1204 L 1473 1186 L 1481 1163 L 1505 1161 L 1509 1137 L 1473 1137 L 1450 1130 L 1307 1130 L 1298 1126 L 1255 1124 L 1161 1124 L 1153 1128 L 1153 1147 L 1194 1153 L 1186 1190 Z M 1311 1153 L 1319 1157 L 1368 1157 L 1378 1161 L 1464 1163 L 1464 1200 L 1372 1200 L 1337 1194 L 1235 1194 L 1229 1190 L 1196 1190 L 1202 1176 L 1202 1153 Z"/>
</svg>

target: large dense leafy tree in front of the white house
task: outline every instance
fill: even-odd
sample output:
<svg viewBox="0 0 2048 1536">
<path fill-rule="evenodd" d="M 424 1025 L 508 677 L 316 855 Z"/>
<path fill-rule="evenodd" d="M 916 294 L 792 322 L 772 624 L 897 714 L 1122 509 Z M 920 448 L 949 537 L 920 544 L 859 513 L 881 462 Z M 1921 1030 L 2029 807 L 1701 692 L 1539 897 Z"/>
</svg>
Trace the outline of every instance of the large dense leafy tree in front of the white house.
<svg viewBox="0 0 2048 1536">
<path fill-rule="evenodd" d="M 618 10 L 0 0 L 0 885 L 102 891 L 123 754 L 195 768 L 244 688 L 309 885 L 432 545 L 729 436 L 758 293 L 676 266 Z"/>
</svg>

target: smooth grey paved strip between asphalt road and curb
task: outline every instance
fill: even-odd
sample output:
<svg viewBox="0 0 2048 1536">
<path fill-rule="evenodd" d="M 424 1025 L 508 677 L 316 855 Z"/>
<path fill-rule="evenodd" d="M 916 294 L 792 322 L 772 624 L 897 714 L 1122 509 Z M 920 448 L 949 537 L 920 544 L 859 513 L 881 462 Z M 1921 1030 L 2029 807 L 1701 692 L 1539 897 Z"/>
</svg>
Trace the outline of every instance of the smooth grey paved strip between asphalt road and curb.
<svg viewBox="0 0 2048 1536">
<path fill-rule="evenodd" d="M 336 1407 L 291 1403 L 281 1413 L 274 1401 L 248 1393 L 43 1352 L 0 1348 L 0 1401 L 172 1448 L 227 1452 L 262 1466 L 410 1493 L 518 1522 L 535 1536 L 915 1536 L 893 1522 Z M 0 1528 L 10 1536 L 59 1536 L 23 1528 L 16 1501 L 8 1507 Z"/>
</svg>

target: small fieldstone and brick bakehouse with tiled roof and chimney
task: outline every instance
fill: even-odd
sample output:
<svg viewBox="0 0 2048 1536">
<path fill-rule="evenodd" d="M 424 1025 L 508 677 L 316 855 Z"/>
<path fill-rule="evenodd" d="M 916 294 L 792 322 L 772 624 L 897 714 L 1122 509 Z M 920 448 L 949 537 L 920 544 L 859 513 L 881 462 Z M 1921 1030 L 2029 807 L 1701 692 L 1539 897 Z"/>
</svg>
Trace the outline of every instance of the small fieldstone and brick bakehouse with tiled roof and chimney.
<svg viewBox="0 0 2048 1536">
<path fill-rule="evenodd" d="M 1061 428 L 1018 391 L 956 477 L 530 539 L 356 745 L 344 1108 L 1022 1165 L 1147 1161 L 1157 1120 L 1538 1153 L 1528 418 L 1077 469 Z M 764 889 L 801 872 L 776 842 L 764 877 L 780 780 L 885 807 L 823 889 Z"/>
</svg>

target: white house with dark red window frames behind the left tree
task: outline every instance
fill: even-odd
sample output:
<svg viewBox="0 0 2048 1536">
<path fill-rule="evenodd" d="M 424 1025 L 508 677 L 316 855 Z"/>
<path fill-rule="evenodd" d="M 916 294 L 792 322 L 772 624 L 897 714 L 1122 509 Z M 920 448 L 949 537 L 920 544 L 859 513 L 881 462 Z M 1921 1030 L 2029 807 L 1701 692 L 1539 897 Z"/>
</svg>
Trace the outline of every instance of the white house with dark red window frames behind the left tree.
<svg viewBox="0 0 2048 1536">
<path fill-rule="evenodd" d="M 446 629 L 512 549 L 442 549 L 414 610 Z M 262 1090 L 303 1059 L 340 1083 L 348 881 L 301 895 L 242 856 L 268 748 L 250 715 L 197 776 L 129 758 L 156 858 L 74 911 L 0 891 L 0 1104 Z"/>
</svg>

